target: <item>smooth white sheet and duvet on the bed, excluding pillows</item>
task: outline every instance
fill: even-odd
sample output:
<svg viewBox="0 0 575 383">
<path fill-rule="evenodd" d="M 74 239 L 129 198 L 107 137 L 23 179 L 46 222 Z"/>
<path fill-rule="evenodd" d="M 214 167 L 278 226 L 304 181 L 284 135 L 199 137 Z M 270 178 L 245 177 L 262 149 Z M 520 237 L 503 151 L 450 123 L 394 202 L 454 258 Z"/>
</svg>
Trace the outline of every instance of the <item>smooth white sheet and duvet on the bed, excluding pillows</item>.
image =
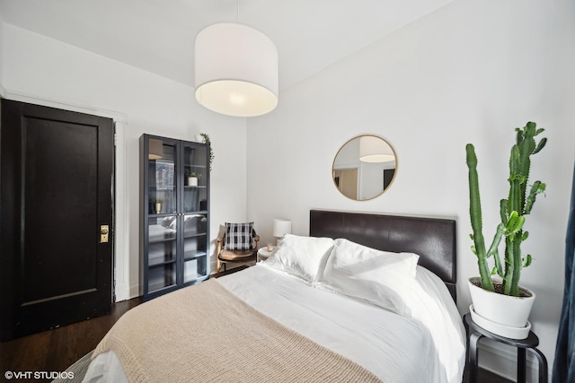
<svg viewBox="0 0 575 383">
<path fill-rule="evenodd" d="M 358 362 L 385 383 L 462 380 L 463 324 L 446 286 L 421 266 L 403 289 L 411 318 L 332 292 L 322 283 L 306 283 L 265 263 L 217 281 L 255 309 Z M 127 381 L 113 352 L 91 363 L 84 382 L 96 381 Z"/>
</svg>

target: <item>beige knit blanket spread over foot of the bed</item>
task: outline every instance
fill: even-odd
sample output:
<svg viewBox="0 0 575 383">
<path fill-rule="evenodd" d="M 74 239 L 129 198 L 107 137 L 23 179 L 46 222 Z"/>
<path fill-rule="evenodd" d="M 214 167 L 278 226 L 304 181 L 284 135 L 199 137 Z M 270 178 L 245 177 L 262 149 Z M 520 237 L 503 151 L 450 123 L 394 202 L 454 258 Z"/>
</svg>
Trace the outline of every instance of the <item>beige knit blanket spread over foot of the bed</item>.
<svg viewBox="0 0 575 383">
<path fill-rule="evenodd" d="M 237 298 L 216 280 L 130 309 L 93 358 L 119 357 L 130 382 L 379 382 Z"/>
</svg>

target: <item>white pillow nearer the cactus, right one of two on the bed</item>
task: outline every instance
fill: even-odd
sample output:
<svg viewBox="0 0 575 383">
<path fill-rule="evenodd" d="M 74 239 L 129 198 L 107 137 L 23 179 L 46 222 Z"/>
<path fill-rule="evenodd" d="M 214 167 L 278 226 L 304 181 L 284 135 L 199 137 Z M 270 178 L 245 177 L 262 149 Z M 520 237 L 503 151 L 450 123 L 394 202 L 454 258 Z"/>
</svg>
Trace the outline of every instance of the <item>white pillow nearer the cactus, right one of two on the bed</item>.
<svg viewBox="0 0 575 383">
<path fill-rule="evenodd" d="M 413 283 L 419 256 L 367 248 L 348 239 L 336 239 L 320 283 L 400 315 L 411 315 L 402 289 Z"/>
</svg>

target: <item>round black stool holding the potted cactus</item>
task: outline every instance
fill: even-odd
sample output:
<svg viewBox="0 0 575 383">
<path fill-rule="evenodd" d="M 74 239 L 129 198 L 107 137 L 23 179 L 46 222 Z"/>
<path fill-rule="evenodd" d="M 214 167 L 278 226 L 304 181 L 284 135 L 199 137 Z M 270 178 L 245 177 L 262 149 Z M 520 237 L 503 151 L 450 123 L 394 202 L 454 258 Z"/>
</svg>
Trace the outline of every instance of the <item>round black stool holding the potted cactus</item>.
<svg viewBox="0 0 575 383">
<path fill-rule="evenodd" d="M 539 362 L 539 383 L 547 383 L 547 359 L 545 355 L 536 349 L 539 345 L 539 338 L 533 331 L 529 332 L 526 339 L 510 339 L 505 336 L 493 334 L 473 322 L 471 314 L 464 315 L 464 326 L 467 330 L 467 353 L 469 361 L 469 382 L 477 383 L 477 354 L 479 340 L 482 337 L 492 339 L 502 344 L 509 344 L 517 347 L 517 383 L 526 381 L 526 350 L 533 353 Z"/>
</svg>

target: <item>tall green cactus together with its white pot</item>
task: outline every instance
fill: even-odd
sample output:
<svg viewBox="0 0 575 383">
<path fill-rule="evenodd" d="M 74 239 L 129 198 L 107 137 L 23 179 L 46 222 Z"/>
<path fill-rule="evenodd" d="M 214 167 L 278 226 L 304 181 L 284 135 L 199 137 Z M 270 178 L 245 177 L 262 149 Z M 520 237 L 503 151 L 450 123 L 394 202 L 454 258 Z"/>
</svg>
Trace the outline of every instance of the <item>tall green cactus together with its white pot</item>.
<svg viewBox="0 0 575 383">
<path fill-rule="evenodd" d="M 532 261 L 531 255 L 521 252 L 521 244 L 529 235 L 523 230 L 523 225 L 526 215 L 531 213 L 535 204 L 535 196 L 545 190 L 545 184 L 541 181 L 537 180 L 533 184 L 528 181 L 530 157 L 540 152 L 547 142 L 546 138 L 535 142 L 535 136 L 543 131 L 544 129 L 537 129 L 534 122 L 528 122 L 523 128 L 516 128 L 516 143 L 511 147 L 509 158 L 509 196 L 500 201 L 501 221 L 489 248 L 486 248 L 482 234 L 477 156 L 473 144 L 467 144 L 465 147 L 469 170 L 469 215 L 473 229 L 472 251 L 477 257 L 481 275 L 469 280 L 473 310 L 482 318 L 501 325 L 501 328 L 526 328 L 527 318 L 535 300 L 533 292 L 519 286 L 519 279 L 521 269 Z M 505 253 L 501 259 L 499 248 L 503 239 Z M 493 258 L 492 269 L 488 265 L 489 258 Z M 499 275 L 500 280 L 491 279 L 492 275 Z M 492 328 L 490 330 L 496 332 Z M 525 335 L 525 332 L 519 332 L 519 335 Z"/>
</svg>

